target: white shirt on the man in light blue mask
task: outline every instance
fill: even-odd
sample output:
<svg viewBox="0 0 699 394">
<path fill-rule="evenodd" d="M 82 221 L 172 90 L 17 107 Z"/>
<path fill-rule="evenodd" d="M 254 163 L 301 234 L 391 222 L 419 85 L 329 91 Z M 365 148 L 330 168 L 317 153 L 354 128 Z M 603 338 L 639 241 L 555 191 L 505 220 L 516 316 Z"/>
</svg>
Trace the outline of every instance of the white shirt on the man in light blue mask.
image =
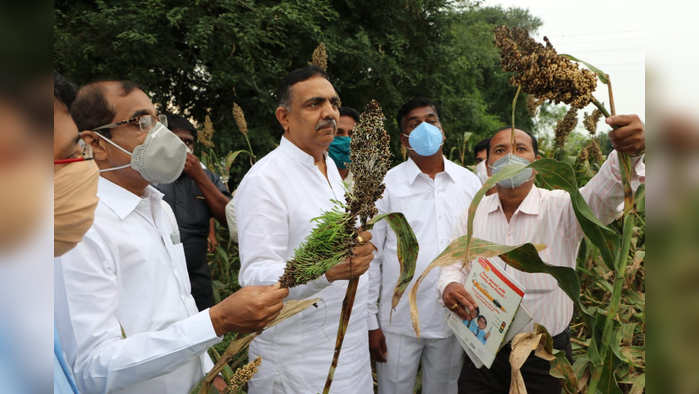
<svg viewBox="0 0 699 394">
<path fill-rule="evenodd" d="M 369 269 L 368 324 L 370 330 L 380 327 L 386 332 L 414 337 L 408 292 L 420 273 L 458 236 L 461 213 L 468 209 L 481 182 L 471 171 L 446 158 L 444 171 L 432 179 L 409 158 L 388 171 L 384 183 L 383 198 L 376 203 L 379 213 L 403 213 L 417 237 L 420 251 L 415 276 L 391 316 L 393 290 L 400 274 L 397 239 L 385 221 L 374 226 L 372 240 L 378 252 Z M 439 303 L 438 278 L 439 269 L 435 269 L 418 289 L 423 338 L 453 335 L 446 325 L 446 310 Z"/>
</svg>

